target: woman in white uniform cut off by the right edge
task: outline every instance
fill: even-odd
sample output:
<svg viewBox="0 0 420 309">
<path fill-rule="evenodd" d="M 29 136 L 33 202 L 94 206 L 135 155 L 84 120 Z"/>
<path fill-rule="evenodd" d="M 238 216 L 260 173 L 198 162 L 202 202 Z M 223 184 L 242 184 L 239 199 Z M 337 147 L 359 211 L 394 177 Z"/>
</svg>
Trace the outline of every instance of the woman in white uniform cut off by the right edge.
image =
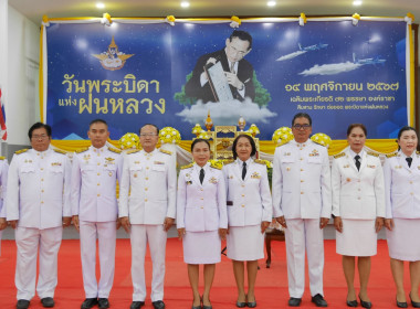
<svg viewBox="0 0 420 309">
<path fill-rule="evenodd" d="M 384 166 L 387 219 L 385 226 L 397 306 L 407 308 L 403 290 L 403 262 L 410 263 L 410 299 L 420 308 L 420 157 L 416 153 L 418 137 L 414 128 L 403 127 L 398 132 L 398 153 L 387 156 Z"/>
</svg>

